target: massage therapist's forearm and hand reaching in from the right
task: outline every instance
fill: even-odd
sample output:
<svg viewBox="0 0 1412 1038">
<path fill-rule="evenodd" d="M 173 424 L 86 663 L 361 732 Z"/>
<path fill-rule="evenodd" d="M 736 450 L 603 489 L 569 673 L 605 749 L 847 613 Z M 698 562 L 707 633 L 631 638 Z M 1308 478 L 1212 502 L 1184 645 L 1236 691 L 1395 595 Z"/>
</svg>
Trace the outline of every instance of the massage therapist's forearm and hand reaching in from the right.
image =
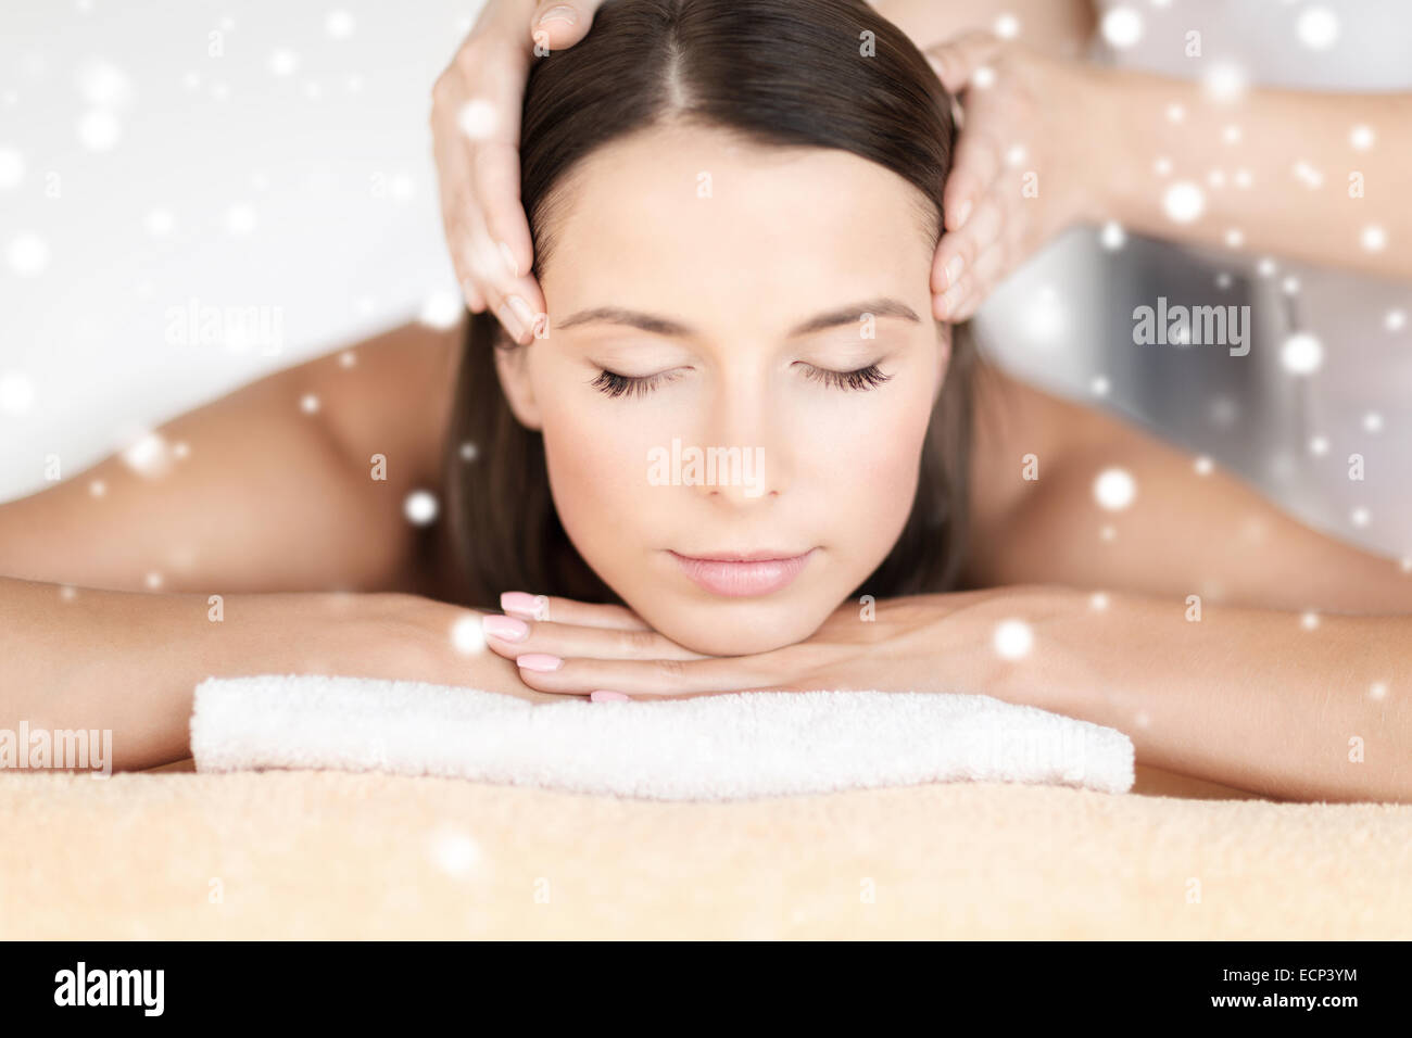
<svg viewBox="0 0 1412 1038">
<path fill-rule="evenodd" d="M 1221 93 L 1027 44 L 970 34 L 929 51 L 966 110 L 932 273 L 940 319 L 971 316 L 1063 229 L 1106 220 L 1412 278 L 1412 93 Z"/>
</svg>

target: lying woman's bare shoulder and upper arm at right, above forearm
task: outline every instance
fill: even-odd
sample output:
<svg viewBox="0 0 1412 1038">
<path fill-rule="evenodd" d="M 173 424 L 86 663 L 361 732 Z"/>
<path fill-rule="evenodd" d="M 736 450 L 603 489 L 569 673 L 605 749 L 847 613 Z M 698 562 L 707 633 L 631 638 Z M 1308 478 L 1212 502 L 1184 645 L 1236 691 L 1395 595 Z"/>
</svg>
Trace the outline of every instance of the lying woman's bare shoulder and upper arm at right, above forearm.
<svg viewBox="0 0 1412 1038">
<path fill-rule="evenodd" d="M 1101 507 L 1107 470 L 1127 484 Z M 1203 593 L 1258 609 L 1412 609 L 1401 563 L 1302 523 L 1258 487 L 1135 419 L 983 370 L 971 453 L 970 586 Z"/>
</svg>

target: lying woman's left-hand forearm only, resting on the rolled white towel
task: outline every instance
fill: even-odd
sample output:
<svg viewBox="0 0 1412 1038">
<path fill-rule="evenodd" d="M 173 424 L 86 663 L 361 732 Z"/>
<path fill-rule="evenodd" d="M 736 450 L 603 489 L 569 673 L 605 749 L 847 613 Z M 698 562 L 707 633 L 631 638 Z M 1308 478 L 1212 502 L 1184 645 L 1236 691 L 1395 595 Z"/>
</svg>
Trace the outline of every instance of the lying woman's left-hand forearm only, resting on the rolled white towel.
<svg viewBox="0 0 1412 1038">
<path fill-rule="evenodd" d="M 411 595 L 145 595 L 0 578 L 0 732 L 110 732 L 107 765 L 136 770 L 191 756 L 192 692 L 213 675 L 342 674 L 539 699 L 513 662 L 463 651 L 479 616 Z"/>
</svg>

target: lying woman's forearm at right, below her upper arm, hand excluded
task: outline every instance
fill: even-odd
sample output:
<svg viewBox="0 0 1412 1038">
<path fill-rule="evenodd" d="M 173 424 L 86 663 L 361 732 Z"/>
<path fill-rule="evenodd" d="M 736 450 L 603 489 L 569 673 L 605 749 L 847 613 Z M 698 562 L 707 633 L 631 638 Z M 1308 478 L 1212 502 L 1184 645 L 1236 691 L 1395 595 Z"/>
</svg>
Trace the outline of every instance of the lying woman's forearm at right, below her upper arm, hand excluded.
<svg viewBox="0 0 1412 1038">
<path fill-rule="evenodd" d="M 1269 797 L 1412 802 L 1412 616 L 1005 595 L 1034 647 L 994 671 L 997 698 L 1115 727 L 1144 764 Z"/>
</svg>

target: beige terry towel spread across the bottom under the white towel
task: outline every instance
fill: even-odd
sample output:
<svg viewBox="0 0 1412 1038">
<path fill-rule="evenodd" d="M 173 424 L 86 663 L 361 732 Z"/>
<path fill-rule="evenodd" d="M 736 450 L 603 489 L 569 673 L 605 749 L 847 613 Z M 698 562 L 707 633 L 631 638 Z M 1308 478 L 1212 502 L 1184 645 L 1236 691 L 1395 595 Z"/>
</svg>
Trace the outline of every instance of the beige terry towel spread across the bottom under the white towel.
<svg viewBox="0 0 1412 1038">
<path fill-rule="evenodd" d="M 6 939 L 1412 938 L 1412 805 L 10 774 L 0 832 Z"/>
</svg>

